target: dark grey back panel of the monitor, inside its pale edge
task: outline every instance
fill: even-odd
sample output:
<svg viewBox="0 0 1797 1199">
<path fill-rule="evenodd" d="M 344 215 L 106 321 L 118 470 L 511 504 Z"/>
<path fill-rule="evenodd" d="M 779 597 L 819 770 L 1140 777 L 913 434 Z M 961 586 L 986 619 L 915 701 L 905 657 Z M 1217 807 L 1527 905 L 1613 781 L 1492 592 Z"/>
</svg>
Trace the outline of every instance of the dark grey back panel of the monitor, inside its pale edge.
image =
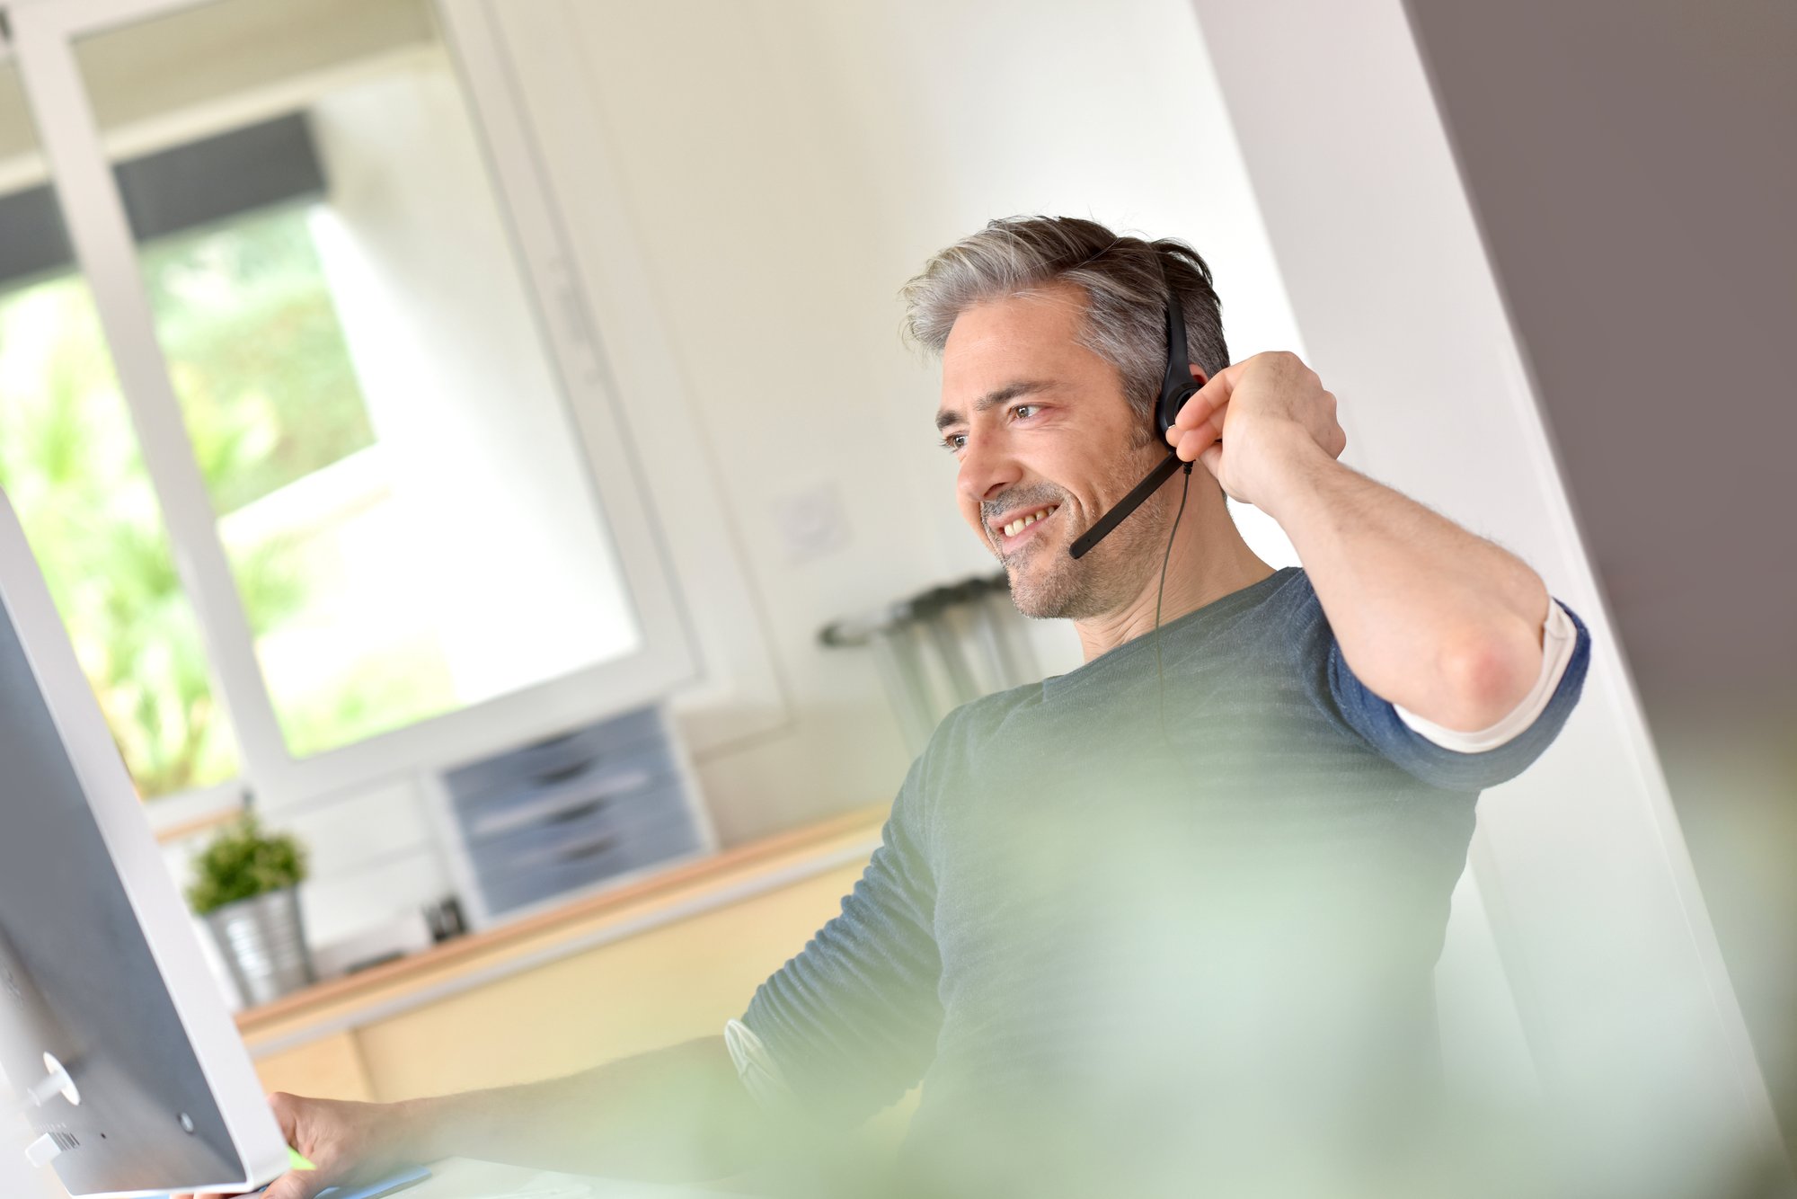
<svg viewBox="0 0 1797 1199">
<path fill-rule="evenodd" d="M 18 1091 L 43 1052 L 81 1093 L 27 1113 L 65 1141 L 70 1194 L 243 1176 L 0 595 L 0 1070 Z"/>
</svg>

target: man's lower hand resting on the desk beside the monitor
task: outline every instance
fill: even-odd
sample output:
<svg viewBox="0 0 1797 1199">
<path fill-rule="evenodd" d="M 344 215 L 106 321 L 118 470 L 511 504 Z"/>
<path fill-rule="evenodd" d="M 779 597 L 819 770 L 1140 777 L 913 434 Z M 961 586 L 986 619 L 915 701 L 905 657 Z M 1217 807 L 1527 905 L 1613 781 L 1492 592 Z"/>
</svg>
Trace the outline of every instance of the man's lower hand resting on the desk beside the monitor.
<svg viewBox="0 0 1797 1199">
<path fill-rule="evenodd" d="M 288 1170 L 262 1192 L 262 1199 L 313 1199 L 327 1186 L 358 1186 L 415 1165 L 401 1104 L 352 1104 L 279 1091 L 268 1097 L 268 1104 L 288 1143 L 318 1168 Z"/>
</svg>

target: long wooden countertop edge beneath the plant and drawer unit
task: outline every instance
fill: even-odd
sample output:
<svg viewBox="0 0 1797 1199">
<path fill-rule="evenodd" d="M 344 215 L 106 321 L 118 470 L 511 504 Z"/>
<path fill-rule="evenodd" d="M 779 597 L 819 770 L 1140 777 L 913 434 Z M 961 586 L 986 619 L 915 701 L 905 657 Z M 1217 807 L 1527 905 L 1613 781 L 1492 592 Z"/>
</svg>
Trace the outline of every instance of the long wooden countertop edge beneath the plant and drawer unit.
<svg viewBox="0 0 1797 1199">
<path fill-rule="evenodd" d="M 386 1019 L 562 956 L 821 874 L 879 845 L 886 804 L 739 845 L 514 924 L 316 983 L 237 1014 L 255 1055 Z M 424 1199 L 424 1192 L 408 1194 Z"/>
</svg>

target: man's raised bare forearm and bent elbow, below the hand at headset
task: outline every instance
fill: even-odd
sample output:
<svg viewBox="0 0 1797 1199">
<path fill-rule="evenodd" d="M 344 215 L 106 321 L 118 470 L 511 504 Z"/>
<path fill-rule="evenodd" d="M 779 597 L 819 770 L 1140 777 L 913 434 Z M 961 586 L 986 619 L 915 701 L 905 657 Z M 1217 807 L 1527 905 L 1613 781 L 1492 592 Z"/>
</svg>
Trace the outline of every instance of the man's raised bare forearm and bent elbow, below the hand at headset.
<svg viewBox="0 0 1797 1199">
<path fill-rule="evenodd" d="M 1294 444 L 1265 505 L 1355 676 L 1445 728 L 1502 719 L 1542 663 L 1547 588 L 1520 559 Z"/>
</svg>

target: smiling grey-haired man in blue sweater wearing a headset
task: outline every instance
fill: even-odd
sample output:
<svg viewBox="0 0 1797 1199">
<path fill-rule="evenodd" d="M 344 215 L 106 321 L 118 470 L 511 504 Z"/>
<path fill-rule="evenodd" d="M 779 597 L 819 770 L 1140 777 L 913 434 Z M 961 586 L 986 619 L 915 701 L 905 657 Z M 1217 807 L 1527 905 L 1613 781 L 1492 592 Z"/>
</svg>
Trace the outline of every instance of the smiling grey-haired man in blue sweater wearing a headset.
<svg viewBox="0 0 1797 1199">
<path fill-rule="evenodd" d="M 1200 390 L 1164 455 L 1177 295 Z M 323 1168 L 478 1156 L 704 1179 L 922 1082 L 909 1194 L 1294 1186 L 1402 1141 L 1474 804 L 1553 741 L 1589 635 L 1502 548 L 1341 466 L 1290 354 L 1227 363 L 1204 261 L 1080 219 L 994 221 L 906 288 L 974 534 L 1085 665 L 951 714 L 843 913 L 726 1035 L 397 1106 L 277 1097 Z M 1224 494 L 1270 514 L 1272 570 Z M 1269 1185 L 1256 1194 L 1274 1194 Z"/>
</svg>

